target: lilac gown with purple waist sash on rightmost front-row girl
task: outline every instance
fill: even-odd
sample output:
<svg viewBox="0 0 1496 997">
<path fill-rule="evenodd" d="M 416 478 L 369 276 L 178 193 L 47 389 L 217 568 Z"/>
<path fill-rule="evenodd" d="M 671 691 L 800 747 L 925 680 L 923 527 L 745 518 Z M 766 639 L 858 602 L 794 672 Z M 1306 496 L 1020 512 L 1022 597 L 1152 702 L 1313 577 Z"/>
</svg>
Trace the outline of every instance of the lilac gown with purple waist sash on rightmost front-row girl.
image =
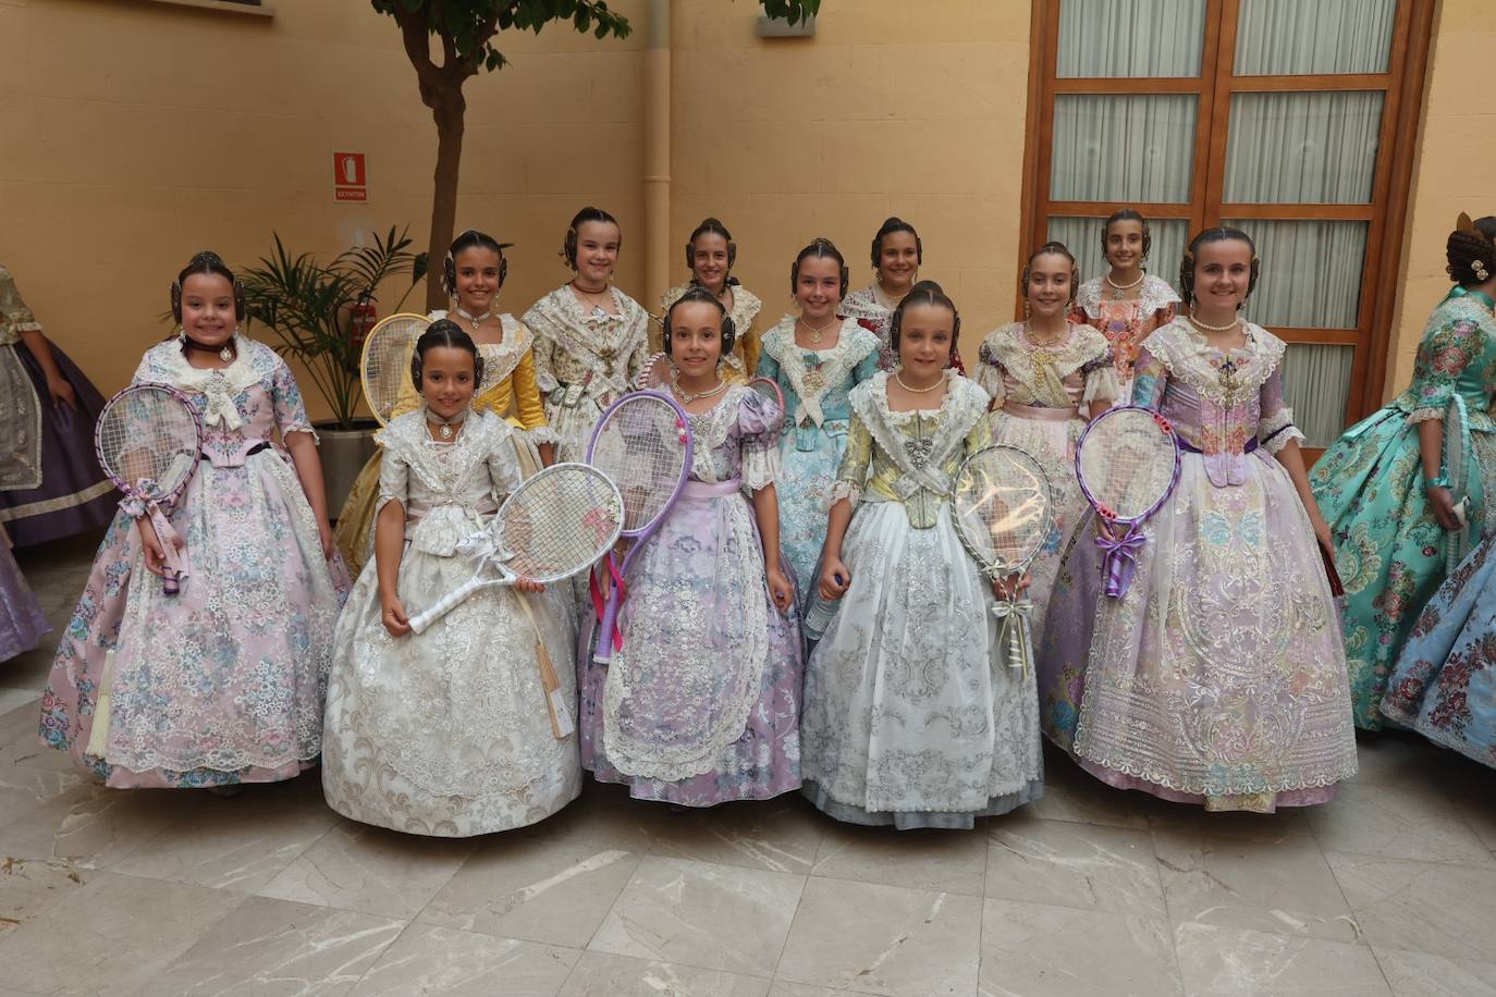
<svg viewBox="0 0 1496 997">
<path fill-rule="evenodd" d="M 1269 456 L 1303 438 L 1284 404 L 1287 347 L 1245 327 L 1228 353 L 1183 318 L 1143 344 L 1132 398 L 1173 423 L 1179 484 L 1094 637 L 1050 620 L 1077 674 L 1047 694 L 1079 706 L 1073 752 L 1098 779 L 1272 812 L 1333 797 L 1355 774 L 1355 731 L 1313 528 Z"/>
</svg>

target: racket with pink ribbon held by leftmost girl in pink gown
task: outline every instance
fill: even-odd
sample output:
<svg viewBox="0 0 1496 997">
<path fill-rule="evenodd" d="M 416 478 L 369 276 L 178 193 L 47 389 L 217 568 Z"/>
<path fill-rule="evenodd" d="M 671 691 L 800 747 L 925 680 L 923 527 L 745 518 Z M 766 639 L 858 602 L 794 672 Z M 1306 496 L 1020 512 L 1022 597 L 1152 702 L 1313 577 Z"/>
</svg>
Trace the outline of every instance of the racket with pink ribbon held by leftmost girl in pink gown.
<svg viewBox="0 0 1496 997">
<path fill-rule="evenodd" d="M 202 420 L 187 396 L 166 384 L 132 384 L 109 399 L 94 427 L 99 466 L 124 492 L 120 504 L 150 519 L 162 543 L 162 592 L 181 592 L 181 541 L 163 505 L 187 487 L 202 454 Z"/>
</svg>

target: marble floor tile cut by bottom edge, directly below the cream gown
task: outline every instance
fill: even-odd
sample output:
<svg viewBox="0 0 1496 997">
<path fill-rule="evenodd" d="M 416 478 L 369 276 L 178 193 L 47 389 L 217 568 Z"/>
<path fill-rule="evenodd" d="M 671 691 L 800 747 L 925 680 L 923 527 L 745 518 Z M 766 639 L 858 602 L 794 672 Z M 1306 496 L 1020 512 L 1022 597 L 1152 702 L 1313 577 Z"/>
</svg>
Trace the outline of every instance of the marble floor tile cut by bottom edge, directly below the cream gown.
<svg viewBox="0 0 1496 997">
<path fill-rule="evenodd" d="M 557 997 L 579 955 L 554 945 L 413 924 L 350 997 Z"/>
</svg>

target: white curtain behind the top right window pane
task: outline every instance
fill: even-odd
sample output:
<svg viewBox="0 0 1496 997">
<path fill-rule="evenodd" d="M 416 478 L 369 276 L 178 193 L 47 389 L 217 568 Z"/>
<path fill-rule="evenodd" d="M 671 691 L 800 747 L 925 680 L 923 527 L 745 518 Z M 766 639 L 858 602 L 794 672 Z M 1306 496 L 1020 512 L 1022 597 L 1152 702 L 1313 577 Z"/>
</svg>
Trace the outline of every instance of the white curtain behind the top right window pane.
<svg viewBox="0 0 1496 997">
<path fill-rule="evenodd" d="M 1385 73 L 1396 16 L 1397 0 L 1242 0 L 1231 72 Z"/>
</svg>

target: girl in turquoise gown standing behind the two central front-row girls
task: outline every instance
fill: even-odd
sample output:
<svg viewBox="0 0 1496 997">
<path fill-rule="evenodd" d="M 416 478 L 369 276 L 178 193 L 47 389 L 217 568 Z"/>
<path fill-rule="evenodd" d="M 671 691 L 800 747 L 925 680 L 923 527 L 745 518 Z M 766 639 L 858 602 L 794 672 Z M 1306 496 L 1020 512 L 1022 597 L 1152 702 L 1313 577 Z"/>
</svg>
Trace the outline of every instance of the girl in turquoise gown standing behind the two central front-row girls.
<svg viewBox="0 0 1496 997">
<path fill-rule="evenodd" d="M 799 315 L 785 315 L 763 336 L 758 375 L 784 392 L 779 441 L 779 543 L 809 599 L 826 540 L 832 481 L 847 450 L 847 393 L 878 369 L 878 336 L 839 318 L 847 265 L 830 239 L 800 250 L 790 268 Z"/>
</svg>

